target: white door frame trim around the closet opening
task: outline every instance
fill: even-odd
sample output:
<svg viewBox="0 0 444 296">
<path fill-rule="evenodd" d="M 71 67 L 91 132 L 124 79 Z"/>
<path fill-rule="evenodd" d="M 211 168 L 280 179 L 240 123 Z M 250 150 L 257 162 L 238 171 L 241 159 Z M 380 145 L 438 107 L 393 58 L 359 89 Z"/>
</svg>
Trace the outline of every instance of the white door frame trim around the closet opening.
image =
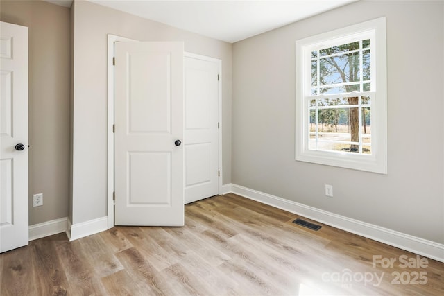
<svg viewBox="0 0 444 296">
<path fill-rule="evenodd" d="M 114 227 L 114 42 L 130 42 L 130 41 L 140 41 L 134 40 L 127 37 L 121 37 L 118 35 L 108 34 L 108 49 L 107 49 L 107 216 L 108 216 L 108 229 Z M 211 58 L 206 55 L 199 55 L 196 53 L 188 53 L 184 51 L 184 57 L 196 58 L 198 60 L 205 60 L 209 62 L 216 62 L 219 67 L 219 81 L 218 81 L 218 121 L 219 121 L 219 184 L 218 193 L 222 194 L 222 184 L 223 184 L 223 168 L 222 168 L 222 60 L 218 58 Z"/>
</svg>

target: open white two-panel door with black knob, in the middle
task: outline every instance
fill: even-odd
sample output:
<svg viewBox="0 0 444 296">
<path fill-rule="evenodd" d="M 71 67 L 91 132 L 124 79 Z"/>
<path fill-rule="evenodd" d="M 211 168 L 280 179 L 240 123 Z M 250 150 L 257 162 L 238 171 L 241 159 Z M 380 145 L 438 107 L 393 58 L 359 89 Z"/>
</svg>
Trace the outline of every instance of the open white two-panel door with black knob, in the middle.
<svg viewBox="0 0 444 296">
<path fill-rule="evenodd" d="M 115 224 L 183 226 L 183 43 L 115 46 Z"/>
</svg>

